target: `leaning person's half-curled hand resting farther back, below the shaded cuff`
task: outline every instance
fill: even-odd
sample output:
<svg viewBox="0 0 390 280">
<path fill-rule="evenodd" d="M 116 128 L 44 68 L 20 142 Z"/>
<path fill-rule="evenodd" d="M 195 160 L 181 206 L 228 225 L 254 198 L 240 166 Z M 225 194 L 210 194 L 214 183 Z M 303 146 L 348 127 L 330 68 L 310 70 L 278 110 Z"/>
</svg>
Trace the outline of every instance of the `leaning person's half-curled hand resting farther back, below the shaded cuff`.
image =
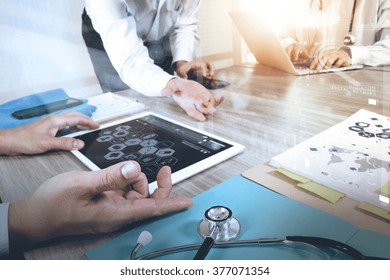
<svg viewBox="0 0 390 280">
<path fill-rule="evenodd" d="M 188 79 L 188 76 L 201 76 L 211 79 L 215 75 L 215 67 L 210 62 L 181 60 L 176 62 L 176 74 L 183 79 Z"/>
</svg>

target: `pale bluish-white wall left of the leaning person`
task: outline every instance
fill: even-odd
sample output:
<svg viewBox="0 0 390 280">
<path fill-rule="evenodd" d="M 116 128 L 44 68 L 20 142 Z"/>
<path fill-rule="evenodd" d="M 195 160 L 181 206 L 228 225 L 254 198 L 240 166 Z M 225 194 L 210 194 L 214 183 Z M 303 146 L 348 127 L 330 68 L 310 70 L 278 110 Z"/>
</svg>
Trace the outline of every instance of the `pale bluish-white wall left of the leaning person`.
<svg viewBox="0 0 390 280">
<path fill-rule="evenodd" d="M 58 87 L 80 97 L 100 91 L 81 36 L 83 4 L 0 0 L 2 102 Z"/>
</svg>

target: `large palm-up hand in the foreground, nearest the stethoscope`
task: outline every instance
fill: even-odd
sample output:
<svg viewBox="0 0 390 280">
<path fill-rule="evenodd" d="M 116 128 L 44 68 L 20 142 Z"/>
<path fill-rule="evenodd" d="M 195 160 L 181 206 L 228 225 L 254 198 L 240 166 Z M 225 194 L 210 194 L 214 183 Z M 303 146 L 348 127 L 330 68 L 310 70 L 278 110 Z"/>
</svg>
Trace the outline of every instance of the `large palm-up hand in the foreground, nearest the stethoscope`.
<svg viewBox="0 0 390 280">
<path fill-rule="evenodd" d="M 31 197 L 10 205 L 10 247 L 59 236 L 111 232 L 190 207 L 192 201 L 187 197 L 169 198 L 170 175 L 169 167 L 159 171 L 158 188 L 151 196 L 146 176 L 134 161 L 57 175 Z"/>
</svg>

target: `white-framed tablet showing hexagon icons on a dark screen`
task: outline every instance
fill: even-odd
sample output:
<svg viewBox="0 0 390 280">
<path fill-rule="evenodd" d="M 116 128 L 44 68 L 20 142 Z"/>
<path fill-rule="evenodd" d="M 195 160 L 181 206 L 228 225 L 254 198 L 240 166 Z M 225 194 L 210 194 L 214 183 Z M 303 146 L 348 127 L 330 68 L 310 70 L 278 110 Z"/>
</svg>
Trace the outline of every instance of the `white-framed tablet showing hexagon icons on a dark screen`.
<svg viewBox="0 0 390 280">
<path fill-rule="evenodd" d="M 91 170 L 121 161 L 137 161 L 148 178 L 150 192 L 157 188 L 156 175 L 164 165 L 171 167 L 175 184 L 245 149 L 233 141 L 151 112 L 66 137 L 84 141 L 85 147 L 72 153 Z"/>
</svg>

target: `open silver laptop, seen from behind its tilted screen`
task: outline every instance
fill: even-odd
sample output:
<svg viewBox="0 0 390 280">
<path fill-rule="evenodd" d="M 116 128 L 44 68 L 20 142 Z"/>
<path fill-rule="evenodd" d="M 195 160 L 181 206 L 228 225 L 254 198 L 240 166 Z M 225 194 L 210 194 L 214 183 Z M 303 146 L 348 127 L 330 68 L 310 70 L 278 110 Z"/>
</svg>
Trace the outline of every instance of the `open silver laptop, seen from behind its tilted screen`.
<svg viewBox="0 0 390 280">
<path fill-rule="evenodd" d="M 294 65 L 272 27 L 259 14 L 231 12 L 230 16 L 256 60 L 264 65 L 294 75 L 339 72 L 363 68 L 363 65 L 311 70 L 309 65 Z"/>
</svg>

